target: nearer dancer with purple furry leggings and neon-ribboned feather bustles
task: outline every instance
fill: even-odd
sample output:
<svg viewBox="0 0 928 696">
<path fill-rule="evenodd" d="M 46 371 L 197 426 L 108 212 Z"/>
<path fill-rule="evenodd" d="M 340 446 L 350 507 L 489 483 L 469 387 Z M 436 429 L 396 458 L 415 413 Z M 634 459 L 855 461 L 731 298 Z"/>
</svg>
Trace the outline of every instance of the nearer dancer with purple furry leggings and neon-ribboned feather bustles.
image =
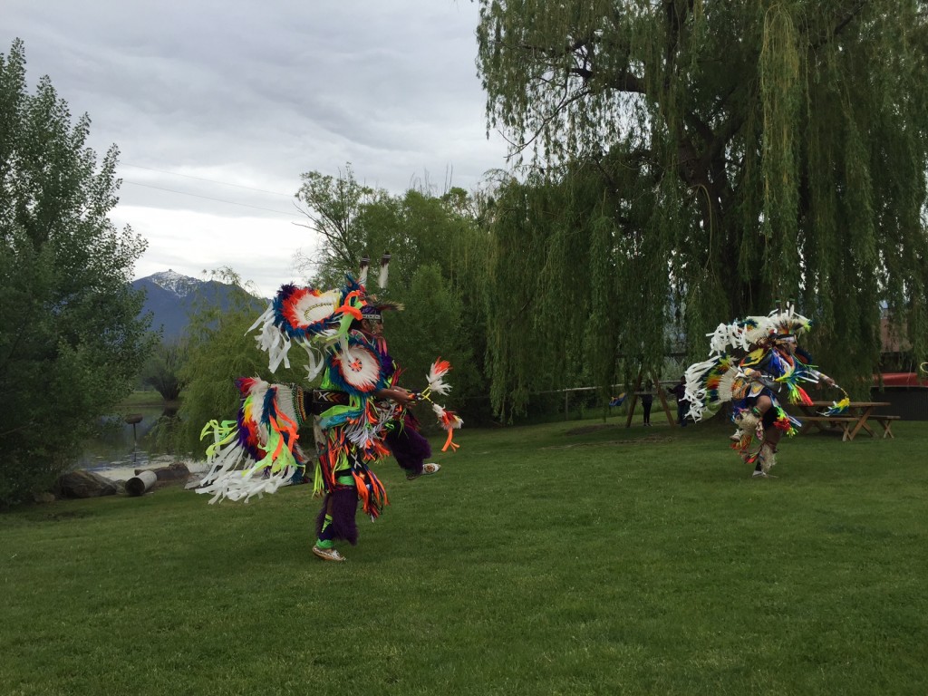
<svg viewBox="0 0 928 696">
<path fill-rule="evenodd" d="M 388 263 L 385 255 L 381 290 Z M 348 277 L 338 290 L 282 287 L 251 329 L 260 329 L 258 344 L 269 355 L 272 372 L 281 363 L 290 367 L 290 348 L 301 346 L 308 380 L 321 378 L 318 388 L 236 380 L 242 397 L 238 419 L 212 421 L 204 428 L 204 436 L 213 434 L 213 445 L 207 449 L 213 466 L 198 492 L 212 494 L 210 502 L 247 502 L 303 478 L 309 458 L 299 445 L 299 431 L 313 420 L 313 490 L 324 496 L 313 553 L 326 561 L 345 560 L 335 548 L 337 540 L 356 544 L 359 501 L 372 520 L 388 504 L 386 490 L 371 470 L 373 463 L 393 454 L 410 480 L 440 469 L 424 462 L 431 447 L 406 407 L 420 400 L 432 402 L 432 394 L 448 393 L 443 378 L 451 366 L 436 360 L 420 392 L 400 387 L 400 370 L 387 351 L 381 322 L 384 312 L 402 305 L 368 296 L 366 282 L 367 260 L 358 280 Z M 448 433 L 443 451 L 457 448 L 452 432 L 461 419 L 433 402 L 432 409 Z"/>
</svg>

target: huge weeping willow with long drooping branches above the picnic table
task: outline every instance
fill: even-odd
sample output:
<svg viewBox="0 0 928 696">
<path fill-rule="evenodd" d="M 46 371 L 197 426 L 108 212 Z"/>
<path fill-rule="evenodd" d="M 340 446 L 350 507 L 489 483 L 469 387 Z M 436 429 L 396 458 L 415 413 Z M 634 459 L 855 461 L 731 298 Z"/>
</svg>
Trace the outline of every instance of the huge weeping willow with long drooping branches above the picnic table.
<svg viewBox="0 0 928 696">
<path fill-rule="evenodd" d="M 794 299 L 839 380 L 928 345 L 926 5 L 482 0 L 497 408 Z M 575 382 L 574 382 L 575 383 Z M 861 384 L 863 382 L 860 382 Z"/>
</svg>

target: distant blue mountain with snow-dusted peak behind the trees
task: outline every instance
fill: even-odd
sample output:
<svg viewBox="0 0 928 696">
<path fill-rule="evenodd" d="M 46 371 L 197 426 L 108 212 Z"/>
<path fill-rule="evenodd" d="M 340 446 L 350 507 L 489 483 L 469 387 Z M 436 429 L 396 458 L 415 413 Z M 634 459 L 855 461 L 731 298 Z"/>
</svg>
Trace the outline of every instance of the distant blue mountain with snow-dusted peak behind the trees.
<svg viewBox="0 0 928 696">
<path fill-rule="evenodd" d="M 151 328 L 161 329 L 161 337 L 165 342 L 177 341 L 187 335 L 190 314 L 201 300 L 228 309 L 232 298 L 242 291 L 235 285 L 218 280 L 198 280 L 170 268 L 133 280 L 132 287 L 145 291 L 145 304 L 141 313 L 151 313 Z M 255 317 L 264 311 L 267 303 L 267 300 L 254 298 Z"/>
</svg>

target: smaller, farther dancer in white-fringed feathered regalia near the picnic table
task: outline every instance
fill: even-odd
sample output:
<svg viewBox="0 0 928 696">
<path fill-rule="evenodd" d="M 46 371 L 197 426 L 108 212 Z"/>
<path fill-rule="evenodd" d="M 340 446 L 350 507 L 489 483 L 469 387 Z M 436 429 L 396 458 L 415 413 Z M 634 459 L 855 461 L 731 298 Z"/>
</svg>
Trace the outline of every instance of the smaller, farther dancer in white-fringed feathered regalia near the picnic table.
<svg viewBox="0 0 928 696">
<path fill-rule="evenodd" d="M 769 475 L 776 463 L 780 438 L 783 434 L 795 434 L 801 425 L 783 409 L 780 397 L 785 395 L 792 404 L 811 405 L 804 384 L 821 382 L 840 389 L 796 345 L 797 336 L 810 325 L 793 306 L 780 308 L 768 316 L 749 316 L 720 324 L 708 334 L 712 337 L 709 359 L 687 369 L 690 417 L 702 419 L 707 408 L 730 402 L 731 418 L 737 428 L 731 435 L 731 446 L 745 462 L 754 465 L 755 478 Z M 844 393 L 844 398 L 825 413 L 837 415 L 847 405 Z"/>
</svg>

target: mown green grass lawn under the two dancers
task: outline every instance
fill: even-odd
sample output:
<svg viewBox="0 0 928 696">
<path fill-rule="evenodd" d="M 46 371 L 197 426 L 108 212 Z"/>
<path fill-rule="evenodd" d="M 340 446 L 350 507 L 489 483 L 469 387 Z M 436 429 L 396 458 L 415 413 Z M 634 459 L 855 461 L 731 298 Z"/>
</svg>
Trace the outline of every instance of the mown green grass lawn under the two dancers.
<svg viewBox="0 0 928 696">
<path fill-rule="evenodd" d="M 753 481 L 729 428 L 653 420 L 388 460 L 341 564 L 308 486 L 6 512 L 0 692 L 928 692 L 928 424 L 785 440 Z"/>
</svg>

